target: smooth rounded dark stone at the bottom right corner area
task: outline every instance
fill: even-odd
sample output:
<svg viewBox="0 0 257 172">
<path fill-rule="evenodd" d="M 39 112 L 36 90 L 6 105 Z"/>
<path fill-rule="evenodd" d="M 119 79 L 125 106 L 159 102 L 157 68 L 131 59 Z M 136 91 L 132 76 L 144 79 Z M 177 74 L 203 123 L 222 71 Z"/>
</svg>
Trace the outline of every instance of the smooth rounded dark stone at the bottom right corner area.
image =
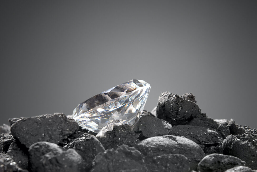
<svg viewBox="0 0 257 172">
<path fill-rule="evenodd" d="M 205 156 L 198 164 L 198 172 L 212 171 L 219 172 L 227 169 L 245 165 L 245 161 L 230 155 L 213 153 Z"/>
</svg>

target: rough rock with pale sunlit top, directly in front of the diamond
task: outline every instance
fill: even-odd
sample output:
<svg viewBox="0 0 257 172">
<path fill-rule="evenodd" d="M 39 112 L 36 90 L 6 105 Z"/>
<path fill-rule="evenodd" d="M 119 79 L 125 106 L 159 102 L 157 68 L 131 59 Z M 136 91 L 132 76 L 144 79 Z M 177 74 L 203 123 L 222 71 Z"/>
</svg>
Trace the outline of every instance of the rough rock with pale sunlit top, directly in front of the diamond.
<svg viewBox="0 0 257 172">
<path fill-rule="evenodd" d="M 105 149 L 116 149 L 122 144 L 135 145 L 139 134 L 133 132 L 128 124 L 122 124 L 118 120 L 108 123 L 97 133 L 96 138 L 102 143 Z"/>
</svg>

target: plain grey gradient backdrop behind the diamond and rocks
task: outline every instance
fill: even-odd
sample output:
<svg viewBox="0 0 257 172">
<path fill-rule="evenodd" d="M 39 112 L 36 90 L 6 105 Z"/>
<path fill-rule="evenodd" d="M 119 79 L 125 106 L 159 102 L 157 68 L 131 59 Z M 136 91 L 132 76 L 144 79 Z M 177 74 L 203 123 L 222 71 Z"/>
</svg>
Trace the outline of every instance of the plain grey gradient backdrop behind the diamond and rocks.
<svg viewBox="0 0 257 172">
<path fill-rule="evenodd" d="M 257 1 L 1 1 L 1 118 L 63 112 L 131 79 L 256 128 Z"/>
</svg>

